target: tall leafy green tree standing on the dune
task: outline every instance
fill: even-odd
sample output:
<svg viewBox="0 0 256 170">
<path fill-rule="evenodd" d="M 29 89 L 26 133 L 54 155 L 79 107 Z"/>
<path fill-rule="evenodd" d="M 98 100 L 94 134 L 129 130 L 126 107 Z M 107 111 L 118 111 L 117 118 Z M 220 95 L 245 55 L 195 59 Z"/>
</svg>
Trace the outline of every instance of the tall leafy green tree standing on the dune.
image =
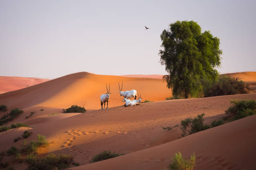
<svg viewBox="0 0 256 170">
<path fill-rule="evenodd" d="M 201 33 L 194 21 L 177 21 L 161 34 L 159 55 L 169 75 L 163 78 L 173 95 L 198 96 L 202 93 L 201 80 L 212 82 L 218 77 L 215 67 L 220 66 L 220 40 L 210 31 Z"/>
</svg>

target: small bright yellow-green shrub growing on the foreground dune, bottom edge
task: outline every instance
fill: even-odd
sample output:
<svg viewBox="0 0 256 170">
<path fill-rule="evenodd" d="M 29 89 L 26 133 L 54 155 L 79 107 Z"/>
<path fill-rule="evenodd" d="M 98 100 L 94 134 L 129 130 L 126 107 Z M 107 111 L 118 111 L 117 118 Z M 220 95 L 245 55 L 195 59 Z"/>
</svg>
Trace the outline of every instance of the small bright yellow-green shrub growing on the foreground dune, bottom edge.
<svg viewBox="0 0 256 170">
<path fill-rule="evenodd" d="M 191 155 L 190 160 L 185 160 L 182 158 L 182 154 L 180 152 L 175 153 L 174 158 L 172 159 L 172 163 L 169 165 L 169 169 L 171 170 L 193 170 L 195 166 L 195 153 Z"/>
</svg>

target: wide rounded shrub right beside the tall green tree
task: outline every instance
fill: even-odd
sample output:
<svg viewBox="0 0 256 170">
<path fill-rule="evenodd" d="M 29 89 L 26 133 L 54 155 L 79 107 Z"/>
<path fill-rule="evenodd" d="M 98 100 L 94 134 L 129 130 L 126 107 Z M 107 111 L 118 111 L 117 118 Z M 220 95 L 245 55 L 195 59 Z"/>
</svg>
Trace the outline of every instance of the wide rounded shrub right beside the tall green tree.
<svg viewBox="0 0 256 170">
<path fill-rule="evenodd" d="M 212 84 L 204 85 L 204 97 L 245 94 L 249 91 L 249 85 L 240 78 L 220 75 Z"/>
</svg>

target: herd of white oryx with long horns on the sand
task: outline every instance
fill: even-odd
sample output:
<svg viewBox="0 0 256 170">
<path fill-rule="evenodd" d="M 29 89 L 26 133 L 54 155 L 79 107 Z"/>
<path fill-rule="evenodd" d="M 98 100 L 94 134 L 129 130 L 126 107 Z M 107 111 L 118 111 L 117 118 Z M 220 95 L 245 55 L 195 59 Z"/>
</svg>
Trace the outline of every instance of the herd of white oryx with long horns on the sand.
<svg viewBox="0 0 256 170">
<path fill-rule="evenodd" d="M 122 82 L 122 87 L 120 89 L 120 84 L 118 82 L 118 86 L 119 86 L 119 93 L 120 96 L 123 96 L 123 102 L 125 102 L 125 107 L 127 106 L 133 106 L 133 105 L 139 105 L 138 103 L 141 102 L 142 97 L 140 95 L 138 95 L 138 100 L 136 100 L 137 97 L 137 91 L 136 90 L 129 90 L 129 91 L 122 91 L 123 90 L 123 82 Z M 107 86 L 107 93 L 100 95 L 100 105 L 101 105 L 101 109 L 103 109 L 103 103 L 104 103 L 104 109 L 105 109 L 105 102 L 107 102 L 107 109 L 108 109 L 108 99 L 109 99 L 109 95 L 111 94 L 110 92 L 110 85 Z M 130 100 L 129 98 L 134 98 L 134 100 Z"/>
</svg>

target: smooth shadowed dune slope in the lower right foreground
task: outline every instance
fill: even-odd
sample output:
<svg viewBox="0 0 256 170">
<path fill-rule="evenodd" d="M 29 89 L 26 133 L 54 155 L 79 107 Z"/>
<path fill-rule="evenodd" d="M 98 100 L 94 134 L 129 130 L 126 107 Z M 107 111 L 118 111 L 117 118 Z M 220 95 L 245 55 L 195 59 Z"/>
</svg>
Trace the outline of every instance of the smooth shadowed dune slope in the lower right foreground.
<svg viewBox="0 0 256 170">
<path fill-rule="evenodd" d="M 163 145 L 70 170 L 164 170 L 174 153 L 195 153 L 195 170 L 253 170 L 256 115 L 211 128 Z"/>
</svg>

